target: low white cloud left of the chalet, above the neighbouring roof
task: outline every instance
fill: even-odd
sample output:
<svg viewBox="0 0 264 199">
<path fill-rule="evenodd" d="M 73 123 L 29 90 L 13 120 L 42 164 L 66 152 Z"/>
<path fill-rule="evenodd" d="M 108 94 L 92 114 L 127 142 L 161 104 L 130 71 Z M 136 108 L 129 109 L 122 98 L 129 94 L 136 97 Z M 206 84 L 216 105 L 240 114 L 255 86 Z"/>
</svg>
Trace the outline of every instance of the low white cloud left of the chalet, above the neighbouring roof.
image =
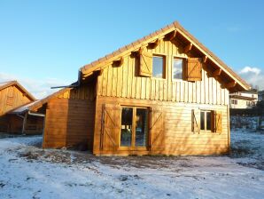
<svg viewBox="0 0 264 199">
<path fill-rule="evenodd" d="M 19 84 L 22 84 L 22 86 L 25 87 L 28 92 L 32 93 L 36 99 L 43 99 L 51 93 L 57 92 L 58 89 L 50 89 L 50 87 L 52 86 L 61 86 L 72 83 L 66 80 L 50 77 L 46 77 L 43 79 L 34 79 L 0 73 L 0 83 L 12 80 L 17 80 Z"/>
</svg>

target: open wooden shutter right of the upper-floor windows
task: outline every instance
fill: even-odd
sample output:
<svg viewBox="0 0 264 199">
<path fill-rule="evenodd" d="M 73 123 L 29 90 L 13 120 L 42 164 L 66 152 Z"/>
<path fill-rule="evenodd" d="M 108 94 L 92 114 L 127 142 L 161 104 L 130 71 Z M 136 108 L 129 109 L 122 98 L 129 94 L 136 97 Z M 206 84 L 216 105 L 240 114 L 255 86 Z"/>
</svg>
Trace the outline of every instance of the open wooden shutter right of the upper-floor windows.
<svg viewBox="0 0 264 199">
<path fill-rule="evenodd" d="M 201 81 L 202 60 L 200 58 L 188 58 L 184 74 L 184 79 L 187 81 Z"/>
</svg>

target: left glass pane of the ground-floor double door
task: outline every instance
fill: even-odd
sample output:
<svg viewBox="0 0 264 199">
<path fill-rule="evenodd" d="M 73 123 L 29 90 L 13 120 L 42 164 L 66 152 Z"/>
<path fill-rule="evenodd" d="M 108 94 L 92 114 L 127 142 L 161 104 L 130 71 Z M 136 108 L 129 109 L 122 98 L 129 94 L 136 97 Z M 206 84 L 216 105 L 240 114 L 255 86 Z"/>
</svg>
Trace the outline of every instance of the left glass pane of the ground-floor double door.
<svg viewBox="0 0 264 199">
<path fill-rule="evenodd" d="M 130 147 L 132 140 L 133 108 L 122 107 L 120 146 Z"/>
</svg>

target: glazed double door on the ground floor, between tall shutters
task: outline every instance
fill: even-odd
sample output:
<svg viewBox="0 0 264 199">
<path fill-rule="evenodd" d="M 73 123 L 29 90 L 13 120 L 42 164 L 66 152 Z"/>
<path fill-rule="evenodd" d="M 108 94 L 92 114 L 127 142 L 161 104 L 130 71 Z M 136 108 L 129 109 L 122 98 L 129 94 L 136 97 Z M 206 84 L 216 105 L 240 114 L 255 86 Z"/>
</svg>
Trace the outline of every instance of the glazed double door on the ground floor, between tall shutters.
<svg viewBox="0 0 264 199">
<path fill-rule="evenodd" d="M 149 109 L 122 107 L 120 147 L 147 147 Z"/>
</svg>

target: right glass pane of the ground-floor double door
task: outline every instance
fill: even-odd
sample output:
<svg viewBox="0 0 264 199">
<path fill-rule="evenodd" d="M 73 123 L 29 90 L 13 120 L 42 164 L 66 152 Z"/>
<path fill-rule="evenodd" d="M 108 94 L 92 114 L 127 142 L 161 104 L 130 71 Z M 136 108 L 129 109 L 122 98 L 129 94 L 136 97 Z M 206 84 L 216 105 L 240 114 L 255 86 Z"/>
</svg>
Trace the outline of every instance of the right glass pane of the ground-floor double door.
<svg viewBox="0 0 264 199">
<path fill-rule="evenodd" d="M 148 109 L 136 108 L 136 147 L 147 146 L 148 121 Z"/>
</svg>

